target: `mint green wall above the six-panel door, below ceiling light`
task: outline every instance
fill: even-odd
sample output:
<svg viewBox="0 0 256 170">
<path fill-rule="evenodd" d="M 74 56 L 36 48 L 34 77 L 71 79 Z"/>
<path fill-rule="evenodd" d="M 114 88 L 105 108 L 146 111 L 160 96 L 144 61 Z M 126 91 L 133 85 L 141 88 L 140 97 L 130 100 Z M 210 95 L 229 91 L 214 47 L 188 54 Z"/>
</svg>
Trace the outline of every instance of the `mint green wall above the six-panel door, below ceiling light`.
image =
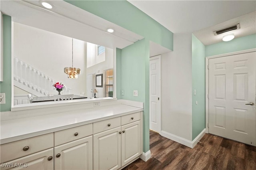
<svg viewBox="0 0 256 170">
<path fill-rule="evenodd" d="M 206 57 L 256 48 L 256 34 L 206 46 Z"/>
</svg>

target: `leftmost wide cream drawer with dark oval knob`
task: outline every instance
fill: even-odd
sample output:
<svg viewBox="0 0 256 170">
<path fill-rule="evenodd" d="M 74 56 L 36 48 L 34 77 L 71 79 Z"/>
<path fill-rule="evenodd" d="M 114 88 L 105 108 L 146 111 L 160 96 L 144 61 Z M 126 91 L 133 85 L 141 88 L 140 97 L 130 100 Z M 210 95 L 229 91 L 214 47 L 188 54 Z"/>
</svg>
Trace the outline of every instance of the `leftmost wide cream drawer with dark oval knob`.
<svg viewBox="0 0 256 170">
<path fill-rule="evenodd" d="M 29 154 L 52 148 L 54 145 L 53 133 L 35 136 L 15 142 L 2 144 L 1 163 L 20 158 Z"/>
</svg>

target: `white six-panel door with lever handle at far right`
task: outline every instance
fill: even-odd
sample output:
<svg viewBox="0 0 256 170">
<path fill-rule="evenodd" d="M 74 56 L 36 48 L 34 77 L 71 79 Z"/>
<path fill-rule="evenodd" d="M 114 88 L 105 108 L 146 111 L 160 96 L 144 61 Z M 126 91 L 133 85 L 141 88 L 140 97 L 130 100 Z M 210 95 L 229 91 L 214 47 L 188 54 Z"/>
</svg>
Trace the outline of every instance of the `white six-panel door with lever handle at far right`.
<svg viewBox="0 0 256 170">
<path fill-rule="evenodd" d="M 209 59 L 209 133 L 256 146 L 255 102 L 256 52 Z"/>
</svg>

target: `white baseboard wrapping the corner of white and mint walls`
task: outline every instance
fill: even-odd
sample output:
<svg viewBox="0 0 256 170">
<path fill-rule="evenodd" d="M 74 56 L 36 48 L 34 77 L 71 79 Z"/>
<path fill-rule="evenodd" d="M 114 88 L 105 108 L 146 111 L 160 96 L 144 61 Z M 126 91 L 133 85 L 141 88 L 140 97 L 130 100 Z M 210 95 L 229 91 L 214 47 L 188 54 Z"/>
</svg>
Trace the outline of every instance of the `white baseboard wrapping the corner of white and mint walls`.
<svg viewBox="0 0 256 170">
<path fill-rule="evenodd" d="M 185 146 L 188 146 L 190 148 L 194 148 L 194 146 L 196 146 L 196 144 L 198 143 L 198 141 L 204 136 L 205 134 L 205 128 L 204 130 L 202 130 L 202 132 L 200 134 L 198 134 L 198 136 L 196 136 L 196 138 L 191 141 L 191 140 L 187 140 L 185 138 L 182 138 L 180 136 L 176 136 L 174 134 L 171 134 L 171 133 L 168 133 L 168 132 L 165 132 L 165 131 L 161 131 L 161 135 L 170 139 L 170 140 L 173 140 L 175 142 L 178 142 L 180 144 L 183 144 Z"/>
</svg>

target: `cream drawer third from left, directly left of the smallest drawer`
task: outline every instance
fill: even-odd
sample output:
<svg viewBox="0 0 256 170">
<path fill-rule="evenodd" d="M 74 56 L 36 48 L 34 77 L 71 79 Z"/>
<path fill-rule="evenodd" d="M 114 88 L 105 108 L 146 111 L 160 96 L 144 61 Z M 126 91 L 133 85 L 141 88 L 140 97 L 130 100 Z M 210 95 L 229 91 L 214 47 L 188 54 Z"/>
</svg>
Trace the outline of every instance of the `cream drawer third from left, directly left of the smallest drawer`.
<svg viewBox="0 0 256 170">
<path fill-rule="evenodd" d="M 109 130 L 115 127 L 121 126 L 121 118 L 116 117 L 112 119 L 107 119 L 104 121 L 93 123 L 93 134 L 96 134 L 98 132 L 103 132 L 105 130 Z"/>
</svg>

